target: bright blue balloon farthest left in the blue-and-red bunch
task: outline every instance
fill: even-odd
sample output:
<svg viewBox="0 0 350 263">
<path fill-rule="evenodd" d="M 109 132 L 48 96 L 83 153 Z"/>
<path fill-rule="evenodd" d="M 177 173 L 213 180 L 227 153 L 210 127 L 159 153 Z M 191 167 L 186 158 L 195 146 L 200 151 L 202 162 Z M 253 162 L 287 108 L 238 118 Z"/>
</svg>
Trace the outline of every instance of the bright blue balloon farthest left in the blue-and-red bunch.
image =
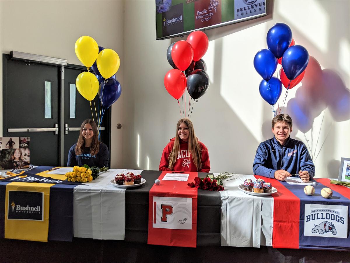
<svg viewBox="0 0 350 263">
<path fill-rule="evenodd" d="M 264 80 L 271 79 L 277 68 L 277 59 L 270 50 L 261 49 L 254 56 L 254 68 Z"/>
</svg>

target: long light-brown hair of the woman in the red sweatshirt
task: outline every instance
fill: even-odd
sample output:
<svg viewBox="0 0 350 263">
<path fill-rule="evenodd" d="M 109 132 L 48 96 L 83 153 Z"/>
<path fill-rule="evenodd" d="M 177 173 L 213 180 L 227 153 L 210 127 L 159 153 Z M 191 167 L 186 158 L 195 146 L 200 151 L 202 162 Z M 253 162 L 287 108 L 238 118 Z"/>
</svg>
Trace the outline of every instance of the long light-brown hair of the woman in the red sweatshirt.
<svg viewBox="0 0 350 263">
<path fill-rule="evenodd" d="M 195 130 L 193 128 L 193 123 L 190 121 L 190 119 L 184 118 L 181 119 L 177 122 L 176 125 L 176 136 L 175 136 L 175 142 L 174 142 L 174 147 L 172 151 L 169 154 L 169 169 L 172 170 L 174 168 L 174 164 L 177 160 L 177 154 L 180 151 L 180 137 L 179 134 L 177 133 L 179 131 L 179 127 L 181 123 L 185 123 L 187 128 L 188 128 L 188 149 L 190 150 L 192 154 L 192 159 L 197 167 L 197 171 L 202 169 L 202 149 L 200 149 L 199 143 L 198 143 L 198 138 L 195 135 Z"/>
</svg>

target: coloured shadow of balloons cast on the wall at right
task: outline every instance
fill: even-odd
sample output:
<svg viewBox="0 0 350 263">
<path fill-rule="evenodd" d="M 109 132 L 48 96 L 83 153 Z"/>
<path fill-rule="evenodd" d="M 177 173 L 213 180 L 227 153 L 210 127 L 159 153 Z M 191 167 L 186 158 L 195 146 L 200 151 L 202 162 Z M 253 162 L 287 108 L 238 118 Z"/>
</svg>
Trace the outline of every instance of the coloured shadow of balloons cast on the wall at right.
<svg viewBox="0 0 350 263">
<path fill-rule="evenodd" d="M 332 69 L 321 69 L 318 61 L 310 56 L 305 76 L 288 101 L 287 110 L 295 126 L 303 133 L 309 131 L 314 119 L 328 109 L 334 121 L 350 119 L 350 91 L 341 77 Z"/>
</svg>

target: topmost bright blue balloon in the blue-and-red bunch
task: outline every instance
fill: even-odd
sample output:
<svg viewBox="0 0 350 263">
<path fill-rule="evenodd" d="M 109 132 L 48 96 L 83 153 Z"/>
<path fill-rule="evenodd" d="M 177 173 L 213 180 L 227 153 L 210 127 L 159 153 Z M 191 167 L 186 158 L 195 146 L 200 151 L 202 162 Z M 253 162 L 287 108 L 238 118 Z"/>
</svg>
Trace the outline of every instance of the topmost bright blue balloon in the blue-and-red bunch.
<svg viewBox="0 0 350 263">
<path fill-rule="evenodd" d="M 285 23 L 276 23 L 268 30 L 266 42 L 268 49 L 279 59 L 292 42 L 292 29 Z"/>
</svg>

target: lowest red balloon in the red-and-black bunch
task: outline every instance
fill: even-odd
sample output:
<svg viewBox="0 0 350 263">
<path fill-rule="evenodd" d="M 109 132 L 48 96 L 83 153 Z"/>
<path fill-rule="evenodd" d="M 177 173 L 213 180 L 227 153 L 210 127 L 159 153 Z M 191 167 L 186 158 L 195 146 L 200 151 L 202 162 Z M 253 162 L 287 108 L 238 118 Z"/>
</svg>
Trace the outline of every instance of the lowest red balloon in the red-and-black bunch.
<svg viewBox="0 0 350 263">
<path fill-rule="evenodd" d="M 164 77 L 164 86 L 175 100 L 181 98 L 186 88 L 186 76 L 179 69 L 170 69 Z"/>
</svg>

